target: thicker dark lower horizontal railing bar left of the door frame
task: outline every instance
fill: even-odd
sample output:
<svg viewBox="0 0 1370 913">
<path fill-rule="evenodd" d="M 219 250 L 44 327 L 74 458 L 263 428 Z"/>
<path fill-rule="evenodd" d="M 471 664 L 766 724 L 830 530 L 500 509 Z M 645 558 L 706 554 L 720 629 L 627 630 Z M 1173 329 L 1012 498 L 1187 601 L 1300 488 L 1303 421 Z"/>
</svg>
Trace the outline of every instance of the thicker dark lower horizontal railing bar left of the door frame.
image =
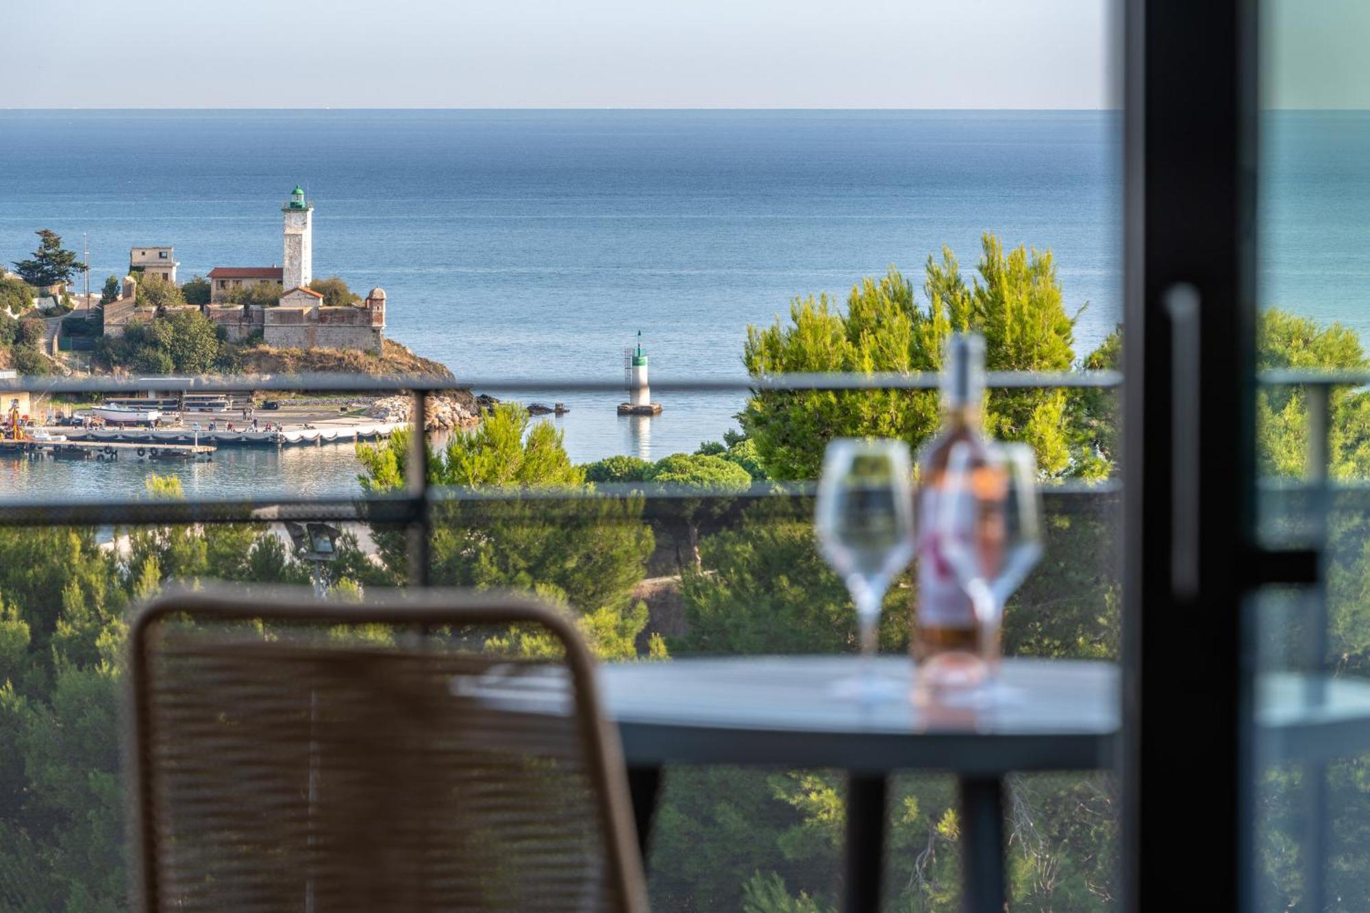
<svg viewBox="0 0 1370 913">
<path fill-rule="evenodd" d="M 759 483 L 736 492 L 701 492 L 680 487 L 651 484 L 596 485 L 593 491 L 567 489 L 429 489 L 430 504 L 480 507 L 533 504 L 540 509 L 575 510 L 595 502 L 621 502 L 640 496 L 644 515 L 678 515 L 682 506 L 711 507 L 723 503 L 755 503 L 766 499 L 808 500 L 814 483 Z M 1119 491 L 1114 483 L 1060 484 L 1043 489 L 1048 502 L 1074 502 L 1088 496 L 1111 496 Z M 686 504 L 686 502 L 689 502 Z M 242 524 L 273 521 L 364 521 L 378 525 L 403 525 L 419 515 L 422 499 L 410 496 L 315 498 L 315 499 L 225 499 L 225 500 L 100 500 L 100 502 L 7 502 L 0 500 L 0 526 L 141 526 L 152 524 Z M 652 506 L 662 506 L 653 511 Z"/>
</svg>

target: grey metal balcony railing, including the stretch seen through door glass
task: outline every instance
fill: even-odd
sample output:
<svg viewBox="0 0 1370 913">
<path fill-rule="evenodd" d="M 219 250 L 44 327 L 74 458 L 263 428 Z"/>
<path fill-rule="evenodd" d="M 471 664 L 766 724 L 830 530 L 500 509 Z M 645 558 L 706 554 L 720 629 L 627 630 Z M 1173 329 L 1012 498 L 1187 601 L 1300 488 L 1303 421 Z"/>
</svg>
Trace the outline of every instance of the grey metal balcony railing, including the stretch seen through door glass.
<svg viewBox="0 0 1370 913">
<path fill-rule="evenodd" d="M 763 378 L 689 378 L 653 381 L 656 392 L 671 393 L 715 393 L 738 398 L 755 392 L 803 392 L 803 391 L 930 391 L 937 387 L 936 374 L 786 374 Z M 1051 389 L 1051 388 L 1117 388 L 1122 382 L 1114 372 L 1073 372 L 1073 373 L 992 373 L 988 387 L 992 389 Z M 1337 481 L 1332 472 L 1332 391 L 1337 388 L 1359 388 L 1370 385 L 1370 374 L 1365 373 L 1306 373 L 1269 372 L 1259 382 L 1265 388 L 1299 388 L 1306 392 L 1308 415 L 1308 454 L 1304 478 L 1295 481 L 1274 481 L 1263 485 L 1262 498 L 1273 515 L 1293 518 L 1286 526 L 1288 535 L 1302 541 L 1322 547 L 1328 537 L 1328 517 L 1334 510 L 1355 504 L 1370 507 L 1370 488 L 1359 481 Z M 81 378 L 18 378 L 0 380 L 0 398 L 8 392 L 29 393 L 133 393 L 138 391 L 164 392 L 311 392 L 311 393 L 395 393 L 412 396 L 412 418 L 418 426 L 426 415 L 426 398 L 445 391 L 469 389 L 500 391 L 501 395 L 519 393 L 616 393 L 622 391 L 618 381 L 597 380 L 527 380 L 527 378 L 478 378 L 438 380 L 433 377 L 386 377 L 369 376 L 293 376 L 293 377 L 225 377 L 225 378 L 141 378 L 118 380 L 107 377 Z M 488 522 L 489 511 L 500 504 L 536 506 L 540 517 L 555 518 L 559 524 L 574 526 L 584 521 L 582 509 L 590 499 L 615 499 L 633 495 L 643 499 L 643 521 L 678 522 L 681 506 L 685 502 L 717 509 L 715 522 L 726 526 L 749 504 L 769 502 L 784 506 L 777 517 L 807 520 L 811 515 L 812 483 L 758 483 L 745 491 L 711 494 L 680 489 L 673 487 L 632 484 L 599 485 L 595 492 L 569 491 L 490 491 L 452 489 L 427 484 L 427 452 L 425 448 L 410 450 L 410 466 L 406 477 L 408 487 L 401 494 L 367 495 L 355 498 L 290 498 L 267 495 L 234 499 L 111 499 L 85 498 L 34 503 L 27 498 L 0 499 L 0 525 L 82 525 L 82 526 L 140 526 L 140 525 L 182 525 L 182 524 L 242 524 L 274 521 L 333 521 L 364 522 L 373 526 L 404 528 L 408 531 L 408 585 L 426 585 L 430 580 L 430 543 L 441 513 L 441 522 L 462 522 L 480 525 Z M 1052 484 L 1044 487 L 1044 499 L 1049 510 L 1059 514 L 1073 514 L 1107 510 L 1117 506 L 1119 485 L 1115 481 L 1080 485 Z M 1323 573 L 1325 579 L 1326 574 Z M 1308 602 L 1308 640 L 1304 644 L 1303 670 L 1325 672 L 1328 657 L 1328 599 L 1325 588 L 1314 588 Z M 1306 701 L 1317 707 L 1325 701 L 1321 687 L 1323 676 L 1307 679 L 1310 690 Z M 1306 813 L 1312 821 L 1328 820 L 1326 766 L 1319 761 L 1307 764 L 1304 779 Z M 977 831 L 964 835 L 971 842 Z M 1318 831 L 1308 836 L 1310 860 L 1326 858 L 1329 835 Z M 967 855 L 984 857 L 982 847 L 966 846 Z M 1001 860 L 999 861 L 1001 865 Z M 1321 886 L 1322 872 L 1310 864 L 1306 884 Z M 1000 879 L 1003 875 L 1000 873 Z"/>
</svg>

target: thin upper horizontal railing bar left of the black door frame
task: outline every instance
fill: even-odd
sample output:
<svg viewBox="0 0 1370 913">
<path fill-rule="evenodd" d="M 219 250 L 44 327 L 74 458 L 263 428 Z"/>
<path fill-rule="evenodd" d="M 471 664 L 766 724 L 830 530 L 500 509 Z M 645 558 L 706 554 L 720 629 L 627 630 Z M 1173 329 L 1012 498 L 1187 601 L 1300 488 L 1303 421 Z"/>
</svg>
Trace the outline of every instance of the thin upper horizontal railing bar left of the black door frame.
<svg viewBox="0 0 1370 913">
<path fill-rule="evenodd" d="M 751 391 L 807 391 L 807 389 L 936 389 L 936 372 L 910 374 L 777 374 L 771 377 L 658 377 L 652 388 L 664 392 L 751 392 Z M 1066 387 L 1118 387 L 1118 372 L 989 372 L 986 385 L 996 389 L 1052 389 Z M 116 377 L 14 377 L 0 380 L 0 395 L 29 393 L 160 393 L 179 392 L 314 392 L 360 393 L 403 392 L 423 389 L 432 392 L 497 389 L 515 393 L 604 393 L 622 392 L 623 381 L 603 378 L 443 378 L 415 374 L 374 377 L 370 374 L 274 374 L 225 377 L 145 377 L 141 380 Z"/>
</svg>

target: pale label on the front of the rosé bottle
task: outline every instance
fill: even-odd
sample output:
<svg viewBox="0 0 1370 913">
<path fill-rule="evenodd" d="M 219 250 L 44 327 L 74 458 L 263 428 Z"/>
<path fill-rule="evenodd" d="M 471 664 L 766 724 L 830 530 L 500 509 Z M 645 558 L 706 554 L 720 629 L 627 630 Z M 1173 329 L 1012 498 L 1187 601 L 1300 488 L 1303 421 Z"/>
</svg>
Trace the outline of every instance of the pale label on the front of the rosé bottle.
<svg viewBox="0 0 1370 913">
<path fill-rule="evenodd" d="M 974 550 L 975 498 L 936 485 L 918 495 L 918 626 L 975 626 L 975 611 L 956 577 L 952 554 Z"/>
</svg>

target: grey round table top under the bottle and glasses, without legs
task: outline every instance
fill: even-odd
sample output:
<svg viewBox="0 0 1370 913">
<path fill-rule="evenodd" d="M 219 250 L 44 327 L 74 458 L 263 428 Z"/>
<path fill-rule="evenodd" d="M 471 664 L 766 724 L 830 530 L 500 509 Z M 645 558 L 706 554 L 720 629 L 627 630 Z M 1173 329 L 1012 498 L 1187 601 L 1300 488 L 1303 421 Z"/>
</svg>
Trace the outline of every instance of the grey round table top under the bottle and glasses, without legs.
<svg viewBox="0 0 1370 913">
<path fill-rule="evenodd" d="M 1118 669 L 1006 659 L 986 695 L 915 706 L 833 694 L 858 657 L 733 657 L 606 665 L 600 684 L 629 766 L 762 764 L 866 772 L 1084 770 L 1112 766 Z M 912 664 L 874 672 L 912 688 Z"/>
</svg>

